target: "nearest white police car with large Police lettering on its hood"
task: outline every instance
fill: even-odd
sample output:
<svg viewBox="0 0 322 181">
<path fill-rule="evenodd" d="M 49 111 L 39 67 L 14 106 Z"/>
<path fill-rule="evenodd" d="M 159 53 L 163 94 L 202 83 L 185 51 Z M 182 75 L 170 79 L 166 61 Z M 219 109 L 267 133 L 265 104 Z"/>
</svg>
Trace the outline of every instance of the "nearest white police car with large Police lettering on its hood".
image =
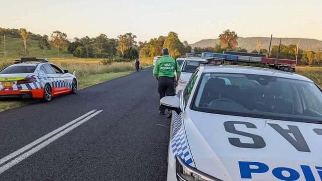
<svg viewBox="0 0 322 181">
<path fill-rule="evenodd" d="M 321 88 L 291 72 L 292 60 L 215 65 L 224 60 L 161 99 L 173 110 L 167 181 L 321 181 Z"/>
</svg>

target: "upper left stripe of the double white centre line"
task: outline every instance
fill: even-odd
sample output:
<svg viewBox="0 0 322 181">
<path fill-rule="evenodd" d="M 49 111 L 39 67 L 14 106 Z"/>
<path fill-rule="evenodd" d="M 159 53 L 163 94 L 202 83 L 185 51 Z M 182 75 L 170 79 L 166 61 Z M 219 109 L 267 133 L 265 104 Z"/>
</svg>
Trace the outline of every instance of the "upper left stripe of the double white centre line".
<svg viewBox="0 0 322 181">
<path fill-rule="evenodd" d="M 53 136 L 53 135 L 57 134 L 58 132 L 60 132 L 60 131 L 62 131 L 63 129 L 65 129 L 65 128 L 69 127 L 70 125 L 72 125 L 72 124 L 76 123 L 77 121 L 79 121 L 79 120 L 81 120 L 81 119 L 85 118 L 86 116 L 88 116 L 88 115 L 92 114 L 92 113 L 93 113 L 93 112 L 95 112 L 95 111 L 97 111 L 97 110 L 96 110 L 96 109 L 94 109 L 94 110 L 92 110 L 92 111 L 90 111 L 90 112 L 88 112 L 88 113 L 84 114 L 83 116 L 81 116 L 81 117 L 79 117 L 79 118 L 77 118 L 77 119 L 74 119 L 73 121 L 71 121 L 71 122 L 69 122 L 69 123 L 65 124 L 64 126 L 61 126 L 60 128 L 58 128 L 58 129 L 56 129 L 56 130 L 52 131 L 51 133 L 49 133 L 49 134 L 47 134 L 47 135 L 45 135 L 45 136 L 43 136 L 43 137 L 38 138 L 38 139 L 37 139 L 37 140 L 35 140 L 34 142 L 27 144 L 26 146 L 24 146 L 24 147 L 22 147 L 22 148 L 18 149 L 17 151 L 15 151 L 15 152 L 13 152 L 13 153 L 9 154 L 8 156 L 5 156 L 5 157 L 1 158 L 1 159 L 0 159 L 0 165 L 2 165 L 2 164 L 3 164 L 4 162 L 6 162 L 6 161 L 8 161 L 8 160 L 10 160 L 10 159 L 12 159 L 12 158 L 14 158 L 14 157 L 18 156 L 19 154 L 21 154 L 21 153 L 25 152 L 26 150 L 28 150 L 28 149 L 32 148 L 32 147 L 33 147 L 33 146 L 35 146 L 36 144 L 38 144 L 38 143 L 40 143 L 40 142 L 42 142 L 42 141 L 44 141 L 44 140 L 48 139 L 49 137 L 51 137 L 51 136 Z"/>
</svg>

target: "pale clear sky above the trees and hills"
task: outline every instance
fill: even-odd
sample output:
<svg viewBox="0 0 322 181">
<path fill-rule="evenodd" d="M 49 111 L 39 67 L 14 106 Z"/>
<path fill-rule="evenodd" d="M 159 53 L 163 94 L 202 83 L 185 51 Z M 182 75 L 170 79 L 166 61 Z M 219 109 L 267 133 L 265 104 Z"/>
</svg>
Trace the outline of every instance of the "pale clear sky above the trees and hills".
<svg viewBox="0 0 322 181">
<path fill-rule="evenodd" d="M 0 27 L 59 30 L 68 39 L 132 32 L 137 42 L 174 31 L 192 44 L 225 29 L 240 37 L 322 40 L 322 0 L 3 0 Z"/>
</svg>

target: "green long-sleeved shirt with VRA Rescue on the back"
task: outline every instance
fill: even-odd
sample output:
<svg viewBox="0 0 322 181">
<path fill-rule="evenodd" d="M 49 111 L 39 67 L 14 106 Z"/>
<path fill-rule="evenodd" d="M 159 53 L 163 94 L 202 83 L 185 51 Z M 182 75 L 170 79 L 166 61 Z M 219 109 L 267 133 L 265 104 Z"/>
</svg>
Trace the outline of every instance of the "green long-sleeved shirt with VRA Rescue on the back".
<svg viewBox="0 0 322 181">
<path fill-rule="evenodd" d="M 180 66 L 175 61 L 175 59 L 171 58 L 169 55 L 162 56 L 155 64 L 153 68 L 154 76 L 166 76 L 166 77 L 174 77 L 175 64 L 177 64 L 177 74 L 181 74 Z"/>
</svg>

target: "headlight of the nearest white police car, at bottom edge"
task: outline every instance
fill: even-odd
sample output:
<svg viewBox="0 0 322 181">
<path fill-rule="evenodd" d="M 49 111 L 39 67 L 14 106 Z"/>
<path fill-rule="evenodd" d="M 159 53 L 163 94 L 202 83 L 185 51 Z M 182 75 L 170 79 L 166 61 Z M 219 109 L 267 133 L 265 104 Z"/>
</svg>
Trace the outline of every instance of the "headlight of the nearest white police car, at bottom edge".
<svg viewBox="0 0 322 181">
<path fill-rule="evenodd" d="M 222 181 L 189 166 L 179 156 L 176 157 L 175 171 L 178 181 Z"/>
</svg>

